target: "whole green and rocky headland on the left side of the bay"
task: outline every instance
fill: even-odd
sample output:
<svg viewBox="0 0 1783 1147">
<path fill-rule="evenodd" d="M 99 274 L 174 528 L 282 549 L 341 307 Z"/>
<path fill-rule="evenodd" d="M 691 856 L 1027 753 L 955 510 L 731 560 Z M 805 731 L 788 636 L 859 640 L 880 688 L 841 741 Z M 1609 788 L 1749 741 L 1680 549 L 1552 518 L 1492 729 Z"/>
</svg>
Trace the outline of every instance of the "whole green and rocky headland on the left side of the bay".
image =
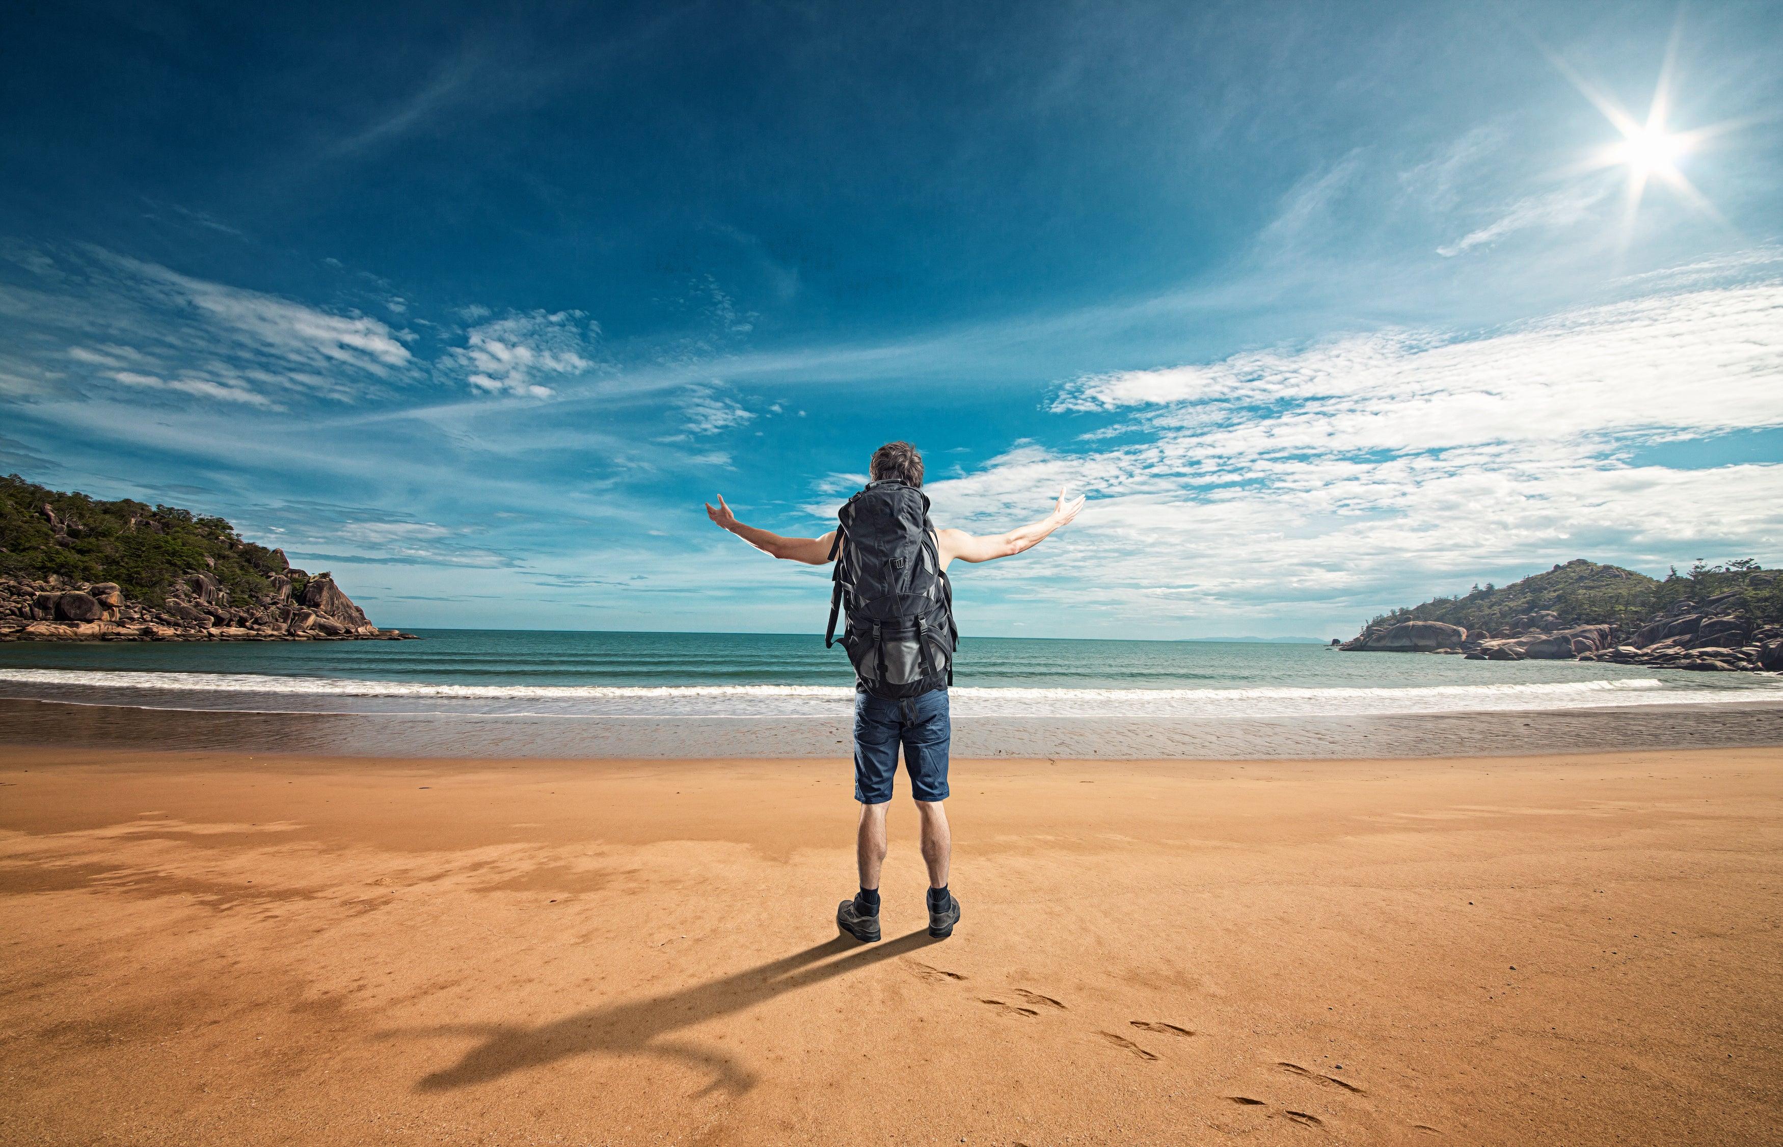
<svg viewBox="0 0 1783 1147">
<path fill-rule="evenodd" d="M 221 517 L 0 478 L 0 640 L 399 640 Z"/>
</svg>

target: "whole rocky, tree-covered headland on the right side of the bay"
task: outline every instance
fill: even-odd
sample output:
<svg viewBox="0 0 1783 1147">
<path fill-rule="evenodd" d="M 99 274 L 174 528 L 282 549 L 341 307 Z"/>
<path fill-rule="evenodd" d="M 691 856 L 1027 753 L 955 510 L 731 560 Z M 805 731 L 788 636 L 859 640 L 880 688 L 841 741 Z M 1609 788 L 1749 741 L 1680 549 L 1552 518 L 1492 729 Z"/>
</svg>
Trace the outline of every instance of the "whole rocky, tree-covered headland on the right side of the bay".
<svg viewBox="0 0 1783 1147">
<path fill-rule="evenodd" d="M 1664 580 L 1576 558 L 1369 621 L 1339 649 L 1473 660 L 1783 671 L 1783 571 L 1740 560 Z"/>
</svg>

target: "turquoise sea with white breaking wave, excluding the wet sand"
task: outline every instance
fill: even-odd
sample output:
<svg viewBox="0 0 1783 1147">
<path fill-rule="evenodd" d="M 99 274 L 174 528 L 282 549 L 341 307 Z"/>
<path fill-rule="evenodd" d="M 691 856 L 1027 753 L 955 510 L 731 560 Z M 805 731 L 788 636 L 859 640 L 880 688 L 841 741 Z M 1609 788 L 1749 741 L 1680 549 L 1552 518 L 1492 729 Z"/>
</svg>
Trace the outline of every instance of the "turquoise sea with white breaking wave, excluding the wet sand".
<svg viewBox="0 0 1783 1147">
<path fill-rule="evenodd" d="M 590 715 L 833 714 L 842 649 L 788 633 L 423 630 L 415 642 L 7 644 L 0 696 L 160 708 Z M 956 712 L 1355 715 L 1783 697 L 1772 674 L 1339 653 L 1325 646 L 963 639 Z"/>
</svg>

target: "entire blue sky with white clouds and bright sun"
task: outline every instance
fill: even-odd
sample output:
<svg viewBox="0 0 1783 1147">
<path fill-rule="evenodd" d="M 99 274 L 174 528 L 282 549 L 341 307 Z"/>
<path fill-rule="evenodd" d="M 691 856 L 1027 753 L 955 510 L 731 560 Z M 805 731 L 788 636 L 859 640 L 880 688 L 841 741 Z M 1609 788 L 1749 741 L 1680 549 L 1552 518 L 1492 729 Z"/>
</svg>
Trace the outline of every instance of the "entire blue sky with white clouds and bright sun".
<svg viewBox="0 0 1783 1147">
<path fill-rule="evenodd" d="M 380 624 L 820 631 L 915 442 L 966 635 L 1348 637 L 1783 564 L 1783 5 L 57 4 L 0 471 Z M 1649 112 L 1658 107 L 1660 114 Z"/>
</svg>

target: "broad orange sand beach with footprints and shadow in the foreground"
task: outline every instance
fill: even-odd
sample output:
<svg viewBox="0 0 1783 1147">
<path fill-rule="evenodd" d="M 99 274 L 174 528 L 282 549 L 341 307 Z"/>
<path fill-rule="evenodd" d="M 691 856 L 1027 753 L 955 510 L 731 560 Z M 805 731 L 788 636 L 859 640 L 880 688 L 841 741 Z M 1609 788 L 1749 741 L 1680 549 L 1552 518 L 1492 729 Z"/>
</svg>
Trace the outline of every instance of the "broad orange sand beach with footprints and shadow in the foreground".
<svg viewBox="0 0 1783 1147">
<path fill-rule="evenodd" d="M 957 760 L 886 940 L 845 760 L 5 749 L 9 1143 L 1760 1143 L 1783 751 Z"/>
</svg>

